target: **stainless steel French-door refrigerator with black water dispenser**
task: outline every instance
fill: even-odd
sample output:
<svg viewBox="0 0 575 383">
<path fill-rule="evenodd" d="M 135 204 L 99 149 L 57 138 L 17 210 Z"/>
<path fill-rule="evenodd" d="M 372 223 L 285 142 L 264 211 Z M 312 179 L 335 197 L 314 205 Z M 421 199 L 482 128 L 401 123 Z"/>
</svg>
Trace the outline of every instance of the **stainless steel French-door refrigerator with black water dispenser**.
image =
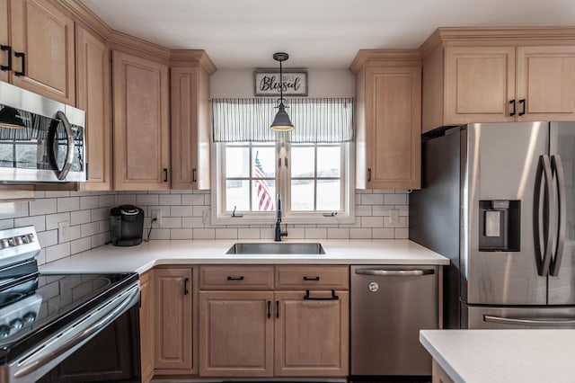
<svg viewBox="0 0 575 383">
<path fill-rule="evenodd" d="M 451 260 L 447 328 L 575 328 L 575 122 L 432 132 L 409 225 Z"/>
</svg>

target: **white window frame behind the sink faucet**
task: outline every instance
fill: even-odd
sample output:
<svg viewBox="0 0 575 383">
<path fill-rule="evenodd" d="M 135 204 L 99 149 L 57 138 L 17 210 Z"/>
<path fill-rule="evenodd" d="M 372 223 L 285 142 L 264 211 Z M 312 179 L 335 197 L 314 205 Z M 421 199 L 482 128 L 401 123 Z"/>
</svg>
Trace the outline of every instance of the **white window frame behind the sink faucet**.
<svg viewBox="0 0 575 383">
<path fill-rule="evenodd" d="M 237 143 L 240 144 L 240 143 Z M 245 143 L 250 146 L 258 146 L 266 143 L 252 142 Z M 282 198 L 282 223 L 292 225 L 307 225 L 307 224 L 352 224 L 355 222 L 355 164 L 354 164 L 354 150 L 353 142 L 342 142 L 339 144 L 330 143 L 308 143 L 301 144 L 302 146 L 313 147 L 341 147 L 341 209 L 334 211 L 320 210 L 320 211 L 291 211 L 290 193 L 288 191 L 291 185 L 291 175 L 289 165 L 291 164 L 291 157 L 288 157 L 288 166 L 285 166 L 283 158 L 287 154 L 291 154 L 291 146 L 299 144 L 289 144 L 283 141 L 275 143 L 276 148 L 276 164 L 281 159 L 282 165 L 276 168 L 276 192 L 279 192 Z M 276 220 L 276 210 L 272 211 L 236 211 L 233 217 L 233 211 L 226 210 L 225 188 L 226 188 L 226 174 L 225 174 L 225 158 L 226 146 L 234 145 L 234 143 L 213 143 L 213 164 L 212 174 L 215 185 L 212 185 L 212 224 L 214 225 L 273 225 Z M 272 145 L 273 147 L 273 145 Z M 315 148 L 317 153 L 317 148 Z M 314 166 L 317 166 L 317 159 L 314 161 Z M 314 172 L 314 181 L 317 182 L 317 174 Z M 322 180 L 323 178 L 319 178 Z M 326 178 L 327 179 L 327 178 Z M 250 169 L 250 180 L 252 181 L 252 166 Z M 250 183 L 252 188 L 252 182 Z M 274 196 L 275 198 L 275 196 Z M 314 191 L 314 200 L 317 198 L 317 191 Z M 315 206 L 315 205 L 314 205 Z"/>
</svg>

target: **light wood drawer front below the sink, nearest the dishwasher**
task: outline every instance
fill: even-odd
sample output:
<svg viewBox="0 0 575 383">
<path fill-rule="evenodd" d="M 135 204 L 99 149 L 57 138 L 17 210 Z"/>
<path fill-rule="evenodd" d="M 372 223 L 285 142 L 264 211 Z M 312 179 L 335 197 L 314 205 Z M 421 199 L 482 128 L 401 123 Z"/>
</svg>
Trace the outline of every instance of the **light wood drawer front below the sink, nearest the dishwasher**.
<svg viewBox="0 0 575 383">
<path fill-rule="evenodd" d="M 348 289 L 348 266 L 276 266 L 277 289 Z"/>
</svg>

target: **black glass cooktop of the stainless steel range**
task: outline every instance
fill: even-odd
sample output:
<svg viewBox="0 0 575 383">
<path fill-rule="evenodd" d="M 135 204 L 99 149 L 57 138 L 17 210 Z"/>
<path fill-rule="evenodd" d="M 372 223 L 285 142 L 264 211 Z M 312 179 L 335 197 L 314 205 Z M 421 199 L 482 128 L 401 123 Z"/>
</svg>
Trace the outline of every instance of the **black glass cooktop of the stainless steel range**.
<svg viewBox="0 0 575 383">
<path fill-rule="evenodd" d="M 137 273 L 0 273 L 0 363 L 137 281 Z"/>
</svg>

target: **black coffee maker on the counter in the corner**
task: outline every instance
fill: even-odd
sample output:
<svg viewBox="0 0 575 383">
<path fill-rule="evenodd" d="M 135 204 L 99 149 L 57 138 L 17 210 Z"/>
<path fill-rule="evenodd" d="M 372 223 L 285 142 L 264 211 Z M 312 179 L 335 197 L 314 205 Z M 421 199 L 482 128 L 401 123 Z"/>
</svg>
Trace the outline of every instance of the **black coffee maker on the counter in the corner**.
<svg viewBox="0 0 575 383">
<path fill-rule="evenodd" d="M 134 246 L 142 243 L 144 210 L 134 205 L 110 209 L 111 244 Z"/>
</svg>

